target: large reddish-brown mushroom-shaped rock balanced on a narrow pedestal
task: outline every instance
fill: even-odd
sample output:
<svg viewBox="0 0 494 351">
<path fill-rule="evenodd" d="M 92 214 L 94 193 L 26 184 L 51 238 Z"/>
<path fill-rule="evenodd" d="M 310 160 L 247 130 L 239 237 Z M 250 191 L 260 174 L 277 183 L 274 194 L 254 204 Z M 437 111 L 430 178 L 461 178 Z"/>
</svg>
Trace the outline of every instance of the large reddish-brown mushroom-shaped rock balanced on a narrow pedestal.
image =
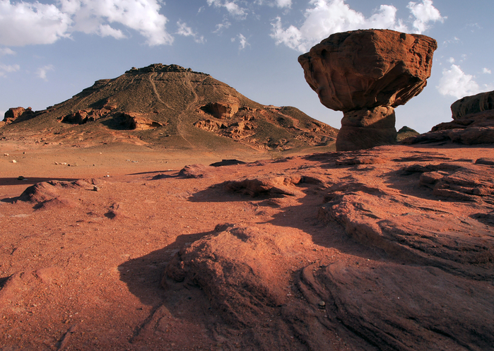
<svg viewBox="0 0 494 351">
<path fill-rule="evenodd" d="M 394 30 L 330 35 L 300 55 L 322 105 L 343 112 L 336 150 L 396 143 L 394 108 L 421 93 L 437 42 Z"/>
</svg>

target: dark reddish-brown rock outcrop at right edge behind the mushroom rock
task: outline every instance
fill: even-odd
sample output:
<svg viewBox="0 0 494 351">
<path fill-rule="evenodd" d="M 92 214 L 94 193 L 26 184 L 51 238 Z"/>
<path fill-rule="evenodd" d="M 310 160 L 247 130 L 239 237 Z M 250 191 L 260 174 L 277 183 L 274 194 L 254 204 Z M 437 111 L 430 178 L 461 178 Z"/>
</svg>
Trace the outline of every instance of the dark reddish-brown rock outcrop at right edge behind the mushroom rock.
<svg viewBox="0 0 494 351">
<path fill-rule="evenodd" d="M 404 143 L 453 142 L 464 145 L 494 143 L 494 91 L 462 97 L 451 105 L 452 121 Z"/>
</svg>

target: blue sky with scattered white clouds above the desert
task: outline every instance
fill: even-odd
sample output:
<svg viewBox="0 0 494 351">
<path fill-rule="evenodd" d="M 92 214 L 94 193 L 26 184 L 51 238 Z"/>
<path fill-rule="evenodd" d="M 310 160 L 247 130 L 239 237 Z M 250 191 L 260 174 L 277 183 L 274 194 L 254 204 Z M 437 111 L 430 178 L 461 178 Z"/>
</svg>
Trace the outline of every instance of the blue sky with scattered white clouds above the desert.
<svg viewBox="0 0 494 351">
<path fill-rule="evenodd" d="M 493 14 L 492 0 L 0 0 L 0 113 L 162 63 L 339 128 L 342 112 L 321 105 L 298 55 L 334 32 L 389 28 L 439 45 L 428 86 L 396 109 L 398 129 L 425 132 L 455 100 L 494 90 Z"/>
</svg>

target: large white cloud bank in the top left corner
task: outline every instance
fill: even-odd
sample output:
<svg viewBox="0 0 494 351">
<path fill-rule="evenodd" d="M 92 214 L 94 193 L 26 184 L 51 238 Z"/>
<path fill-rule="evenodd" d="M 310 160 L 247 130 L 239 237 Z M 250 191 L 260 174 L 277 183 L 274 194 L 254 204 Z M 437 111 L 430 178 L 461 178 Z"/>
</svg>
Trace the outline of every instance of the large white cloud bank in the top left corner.
<svg viewBox="0 0 494 351">
<path fill-rule="evenodd" d="M 59 0 L 57 5 L 0 0 L 0 44 L 52 44 L 71 32 L 117 39 L 122 26 L 136 30 L 150 46 L 171 44 L 160 0 Z M 117 28 L 115 28 L 117 26 Z M 118 28 L 120 27 L 120 28 Z"/>
</svg>

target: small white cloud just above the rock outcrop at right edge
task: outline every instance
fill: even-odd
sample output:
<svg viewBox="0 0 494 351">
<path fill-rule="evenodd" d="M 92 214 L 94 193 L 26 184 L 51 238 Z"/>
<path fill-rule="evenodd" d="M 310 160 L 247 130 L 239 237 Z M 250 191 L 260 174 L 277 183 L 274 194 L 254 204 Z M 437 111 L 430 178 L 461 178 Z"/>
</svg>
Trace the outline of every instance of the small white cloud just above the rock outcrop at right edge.
<svg viewBox="0 0 494 351">
<path fill-rule="evenodd" d="M 493 85 L 484 85 L 481 88 L 474 78 L 475 76 L 464 73 L 460 66 L 452 64 L 450 69 L 442 70 L 442 77 L 436 88 L 441 95 L 451 95 L 457 99 L 493 89 Z"/>
</svg>

